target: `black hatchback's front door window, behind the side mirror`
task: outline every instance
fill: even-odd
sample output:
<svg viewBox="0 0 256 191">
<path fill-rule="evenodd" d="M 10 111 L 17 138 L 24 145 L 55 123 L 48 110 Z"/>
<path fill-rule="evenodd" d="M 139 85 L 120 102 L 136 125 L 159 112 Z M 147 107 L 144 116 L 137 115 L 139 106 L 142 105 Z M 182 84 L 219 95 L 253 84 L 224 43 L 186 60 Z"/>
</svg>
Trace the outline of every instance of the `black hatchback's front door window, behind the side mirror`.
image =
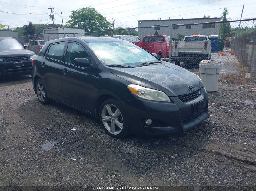
<svg viewBox="0 0 256 191">
<path fill-rule="evenodd" d="M 65 62 L 74 64 L 75 58 L 87 58 L 91 62 L 91 55 L 82 46 L 76 43 L 68 43 Z"/>
</svg>

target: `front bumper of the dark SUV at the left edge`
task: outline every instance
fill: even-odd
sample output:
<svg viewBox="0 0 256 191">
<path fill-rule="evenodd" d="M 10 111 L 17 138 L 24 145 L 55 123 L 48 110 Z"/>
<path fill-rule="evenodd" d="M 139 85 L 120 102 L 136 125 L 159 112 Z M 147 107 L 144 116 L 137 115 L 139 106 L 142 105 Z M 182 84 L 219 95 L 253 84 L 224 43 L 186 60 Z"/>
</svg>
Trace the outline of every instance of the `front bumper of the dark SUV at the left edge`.
<svg viewBox="0 0 256 191">
<path fill-rule="evenodd" d="M 0 77 L 32 74 L 31 60 L 22 62 L 24 66 L 21 67 L 15 67 L 14 62 L 0 63 Z"/>
</svg>

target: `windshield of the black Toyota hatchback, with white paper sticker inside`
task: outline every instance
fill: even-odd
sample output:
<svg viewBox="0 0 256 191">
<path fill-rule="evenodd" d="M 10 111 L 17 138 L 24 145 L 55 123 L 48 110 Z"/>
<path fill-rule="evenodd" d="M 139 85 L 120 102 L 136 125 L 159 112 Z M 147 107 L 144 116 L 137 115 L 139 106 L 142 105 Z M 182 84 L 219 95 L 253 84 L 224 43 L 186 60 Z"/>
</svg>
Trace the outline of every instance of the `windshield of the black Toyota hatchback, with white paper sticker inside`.
<svg viewBox="0 0 256 191">
<path fill-rule="evenodd" d="M 105 65 L 136 66 L 144 62 L 159 62 L 155 56 L 130 42 L 88 43 Z"/>
</svg>

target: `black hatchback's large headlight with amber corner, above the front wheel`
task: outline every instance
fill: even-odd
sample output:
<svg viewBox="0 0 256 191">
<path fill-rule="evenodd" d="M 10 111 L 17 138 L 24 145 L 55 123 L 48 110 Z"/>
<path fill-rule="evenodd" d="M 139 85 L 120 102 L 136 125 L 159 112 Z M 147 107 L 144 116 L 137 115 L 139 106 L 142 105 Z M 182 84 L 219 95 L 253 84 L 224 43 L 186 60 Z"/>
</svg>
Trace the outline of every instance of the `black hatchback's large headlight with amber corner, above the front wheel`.
<svg viewBox="0 0 256 191">
<path fill-rule="evenodd" d="M 134 84 L 128 85 L 127 87 L 131 91 L 131 93 L 142 99 L 170 102 L 170 98 L 168 97 L 168 95 L 166 95 L 162 91 L 145 88 L 143 86 Z"/>
</svg>

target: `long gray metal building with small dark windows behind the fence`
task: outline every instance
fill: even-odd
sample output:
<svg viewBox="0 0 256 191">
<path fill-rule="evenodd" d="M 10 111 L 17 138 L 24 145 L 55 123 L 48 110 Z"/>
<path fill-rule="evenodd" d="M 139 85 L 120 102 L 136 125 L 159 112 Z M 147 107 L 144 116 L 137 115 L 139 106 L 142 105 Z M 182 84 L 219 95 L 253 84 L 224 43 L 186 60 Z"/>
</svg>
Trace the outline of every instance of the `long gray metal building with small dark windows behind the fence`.
<svg viewBox="0 0 256 191">
<path fill-rule="evenodd" d="M 152 27 L 154 28 L 138 28 L 138 37 L 142 40 L 145 35 L 154 35 L 157 31 L 158 34 L 170 36 L 170 27 L 158 27 L 171 24 L 192 24 L 192 23 L 205 23 L 220 21 L 221 17 L 214 18 L 191 18 L 191 19 L 159 19 L 159 20 L 139 20 L 138 27 Z M 178 38 L 178 34 L 184 36 L 199 33 L 201 35 L 219 34 L 220 24 L 205 24 L 205 25 L 189 25 L 189 26 L 176 26 L 173 27 L 172 38 Z"/>
</svg>

